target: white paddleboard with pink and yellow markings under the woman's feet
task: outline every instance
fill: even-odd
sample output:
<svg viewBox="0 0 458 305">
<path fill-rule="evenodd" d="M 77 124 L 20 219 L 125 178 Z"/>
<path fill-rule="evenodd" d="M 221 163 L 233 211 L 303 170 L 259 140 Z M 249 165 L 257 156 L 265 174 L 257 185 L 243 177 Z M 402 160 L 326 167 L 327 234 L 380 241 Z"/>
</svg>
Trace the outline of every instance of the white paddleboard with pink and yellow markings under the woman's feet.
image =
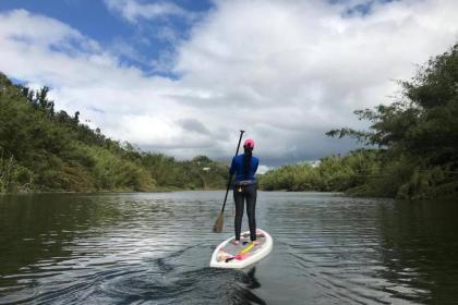
<svg viewBox="0 0 458 305">
<path fill-rule="evenodd" d="M 250 231 L 240 235 L 240 243 L 233 244 L 236 236 L 220 243 L 214 251 L 210 259 L 210 267 L 216 268 L 243 268 L 266 257 L 274 245 L 272 236 L 261 229 L 256 230 L 256 241 L 260 244 L 252 244 Z"/>
</svg>

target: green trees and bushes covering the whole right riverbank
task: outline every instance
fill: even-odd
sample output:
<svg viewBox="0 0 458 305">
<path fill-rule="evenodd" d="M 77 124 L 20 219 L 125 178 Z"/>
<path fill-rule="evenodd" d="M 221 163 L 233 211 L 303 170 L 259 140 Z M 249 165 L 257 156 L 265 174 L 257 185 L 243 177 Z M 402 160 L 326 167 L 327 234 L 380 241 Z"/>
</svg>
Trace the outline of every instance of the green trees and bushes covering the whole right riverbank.
<svg viewBox="0 0 458 305">
<path fill-rule="evenodd" d="M 266 173 L 265 190 L 345 191 L 357 196 L 458 196 L 458 45 L 422 68 L 388 106 L 357 110 L 369 131 L 333 130 L 377 150 L 287 166 Z"/>
</svg>

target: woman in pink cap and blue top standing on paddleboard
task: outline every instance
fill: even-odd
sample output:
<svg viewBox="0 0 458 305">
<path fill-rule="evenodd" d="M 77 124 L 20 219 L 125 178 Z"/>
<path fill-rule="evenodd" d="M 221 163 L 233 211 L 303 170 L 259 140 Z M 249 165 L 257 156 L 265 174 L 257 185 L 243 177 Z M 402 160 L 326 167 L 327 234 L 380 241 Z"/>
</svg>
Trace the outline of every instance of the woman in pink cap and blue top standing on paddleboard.
<svg viewBox="0 0 458 305">
<path fill-rule="evenodd" d="M 246 215 L 250 225 L 250 240 L 256 243 L 256 195 L 257 182 L 256 170 L 260 164 L 258 158 L 253 156 L 254 141 L 246 139 L 243 144 L 244 154 L 233 157 L 230 167 L 230 174 L 236 174 L 233 184 L 233 200 L 236 202 L 236 241 L 240 243 L 240 231 L 242 228 L 243 206 L 246 202 Z"/>
</svg>

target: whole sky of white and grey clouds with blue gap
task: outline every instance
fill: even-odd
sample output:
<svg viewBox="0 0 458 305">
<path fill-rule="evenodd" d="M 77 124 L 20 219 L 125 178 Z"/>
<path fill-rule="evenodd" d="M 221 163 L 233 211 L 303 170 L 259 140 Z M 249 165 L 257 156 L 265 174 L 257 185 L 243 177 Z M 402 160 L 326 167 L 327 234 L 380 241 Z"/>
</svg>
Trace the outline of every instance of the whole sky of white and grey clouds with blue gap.
<svg viewBox="0 0 458 305">
<path fill-rule="evenodd" d="M 264 167 L 345 152 L 324 133 L 393 101 L 458 40 L 456 0 L 1 0 L 0 71 L 106 135 Z"/>
</svg>

